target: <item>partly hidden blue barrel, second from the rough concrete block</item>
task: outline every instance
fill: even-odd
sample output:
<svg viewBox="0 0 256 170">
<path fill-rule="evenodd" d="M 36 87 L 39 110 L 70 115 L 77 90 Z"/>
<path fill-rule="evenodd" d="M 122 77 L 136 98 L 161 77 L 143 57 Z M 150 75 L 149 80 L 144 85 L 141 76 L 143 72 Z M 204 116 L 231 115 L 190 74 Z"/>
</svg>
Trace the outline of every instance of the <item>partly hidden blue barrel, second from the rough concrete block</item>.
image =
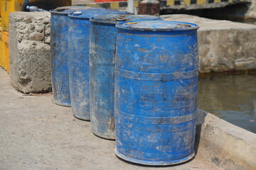
<svg viewBox="0 0 256 170">
<path fill-rule="evenodd" d="M 68 69 L 70 98 L 75 118 L 90 120 L 89 43 L 90 21 L 94 16 L 127 13 L 105 8 L 90 8 L 70 13 L 68 30 Z"/>
</svg>

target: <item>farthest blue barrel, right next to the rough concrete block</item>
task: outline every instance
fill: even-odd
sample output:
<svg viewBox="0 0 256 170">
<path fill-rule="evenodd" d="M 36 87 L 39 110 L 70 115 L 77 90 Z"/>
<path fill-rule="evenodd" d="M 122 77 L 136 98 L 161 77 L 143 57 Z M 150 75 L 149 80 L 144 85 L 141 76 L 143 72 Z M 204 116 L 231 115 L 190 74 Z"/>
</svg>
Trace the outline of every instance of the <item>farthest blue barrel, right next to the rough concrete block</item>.
<svg viewBox="0 0 256 170">
<path fill-rule="evenodd" d="M 71 106 L 68 83 L 68 13 L 85 8 L 90 7 L 64 6 L 50 11 L 53 102 L 60 106 Z"/>
</svg>

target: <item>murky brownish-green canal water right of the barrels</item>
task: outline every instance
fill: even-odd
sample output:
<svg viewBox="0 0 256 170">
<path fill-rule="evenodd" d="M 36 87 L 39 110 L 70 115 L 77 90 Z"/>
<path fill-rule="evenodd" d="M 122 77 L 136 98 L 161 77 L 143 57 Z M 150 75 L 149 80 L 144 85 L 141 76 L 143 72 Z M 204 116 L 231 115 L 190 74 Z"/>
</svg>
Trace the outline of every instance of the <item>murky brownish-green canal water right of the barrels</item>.
<svg viewBox="0 0 256 170">
<path fill-rule="evenodd" d="M 198 108 L 256 133 L 256 74 L 200 78 Z"/>
</svg>

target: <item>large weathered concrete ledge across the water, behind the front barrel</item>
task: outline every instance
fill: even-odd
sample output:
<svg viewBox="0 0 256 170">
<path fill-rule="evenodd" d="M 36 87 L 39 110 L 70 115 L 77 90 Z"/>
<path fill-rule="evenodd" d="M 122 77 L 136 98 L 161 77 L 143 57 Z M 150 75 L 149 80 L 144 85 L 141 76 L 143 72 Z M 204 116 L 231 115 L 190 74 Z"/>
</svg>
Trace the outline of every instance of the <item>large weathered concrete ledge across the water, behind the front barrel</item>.
<svg viewBox="0 0 256 170">
<path fill-rule="evenodd" d="M 256 26 L 198 16 L 164 15 L 166 21 L 197 23 L 201 73 L 256 69 Z"/>
</svg>

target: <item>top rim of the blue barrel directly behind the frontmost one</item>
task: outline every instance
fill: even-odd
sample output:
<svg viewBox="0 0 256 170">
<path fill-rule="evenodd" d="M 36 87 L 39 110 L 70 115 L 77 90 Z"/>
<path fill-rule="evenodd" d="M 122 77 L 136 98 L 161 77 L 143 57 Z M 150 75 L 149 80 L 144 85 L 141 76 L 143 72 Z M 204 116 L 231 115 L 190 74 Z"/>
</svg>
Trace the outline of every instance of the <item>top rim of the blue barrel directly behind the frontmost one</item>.
<svg viewBox="0 0 256 170">
<path fill-rule="evenodd" d="M 138 18 L 137 21 L 149 21 L 149 20 L 161 21 L 161 17 L 159 17 L 159 16 L 134 15 L 133 13 L 109 14 L 107 16 L 95 16 L 95 17 L 90 18 L 90 21 L 92 23 L 108 23 L 108 24 L 113 24 L 113 25 L 115 25 L 117 23 L 127 23 L 127 22 L 131 22 L 131 21 L 135 21 L 136 18 L 133 18 L 132 20 L 128 20 L 128 21 L 127 20 L 117 21 L 117 19 L 120 17 L 128 18 L 129 16 L 144 16 L 145 17 L 145 18 Z M 115 21 L 106 20 L 111 17 L 114 18 Z M 146 18 L 146 17 L 151 17 L 151 18 Z"/>
</svg>

